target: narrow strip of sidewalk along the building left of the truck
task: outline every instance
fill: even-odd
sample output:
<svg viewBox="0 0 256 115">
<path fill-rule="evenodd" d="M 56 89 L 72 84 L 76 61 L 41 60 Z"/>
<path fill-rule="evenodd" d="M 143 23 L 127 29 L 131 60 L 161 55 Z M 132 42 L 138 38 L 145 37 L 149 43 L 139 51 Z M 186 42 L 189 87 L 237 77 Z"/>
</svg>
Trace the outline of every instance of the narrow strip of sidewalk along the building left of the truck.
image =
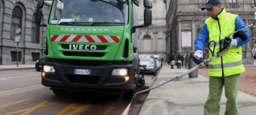
<svg viewBox="0 0 256 115">
<path fill-rule="evenodd" d="M 35 69 L 35 64 L 31 64 L 31 65 L 19 64 L 18 66 L 17 65 L 0 65 L 0 71 L 20 70 L 20 69 Z"/>
</svg>

